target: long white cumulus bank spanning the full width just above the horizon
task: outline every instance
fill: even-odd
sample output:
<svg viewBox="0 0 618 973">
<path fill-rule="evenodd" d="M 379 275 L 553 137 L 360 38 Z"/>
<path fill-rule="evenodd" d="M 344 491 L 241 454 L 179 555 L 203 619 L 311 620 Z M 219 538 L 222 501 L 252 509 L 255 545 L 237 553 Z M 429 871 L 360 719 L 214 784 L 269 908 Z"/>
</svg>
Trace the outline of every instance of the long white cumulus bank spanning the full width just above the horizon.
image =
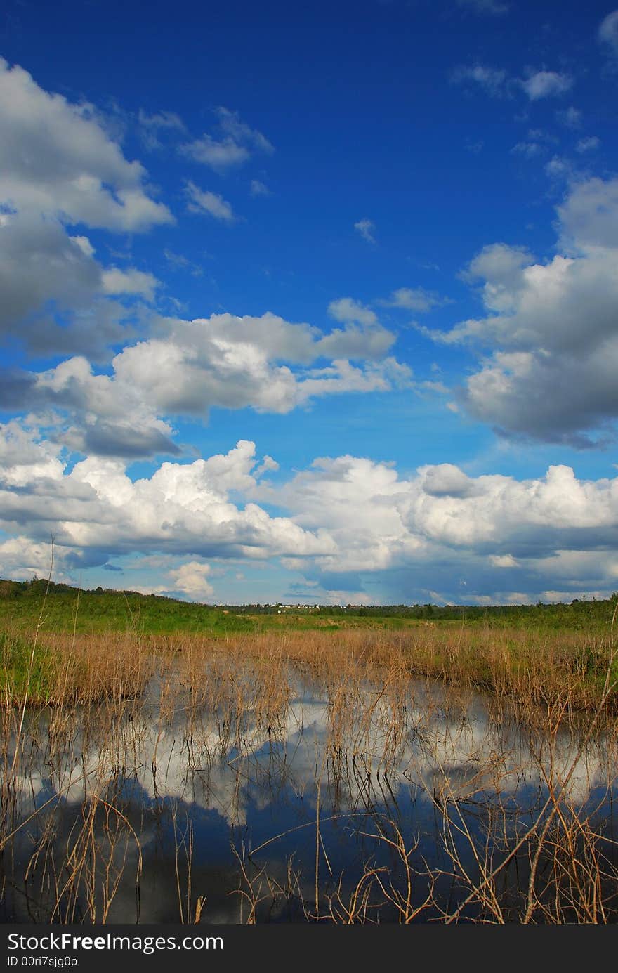
<svg viewBox="0 0 618 973">
<path fill-rule="evenodd" d="M 213 594 L 212 559 L 279 558 L 312 596 L 366 603 L 376 595 L 364 581 L 381 575 L 398 600 L 504 602 L 556 579 L 564 593 L 607 592 L 618 577 L 618 478 L 578 480 L 567 466 L 523 481 L 451 463 L 401 476 L 343 455 L 273 486 L 262 475 L 276 461 L 241 440 L 132 482 L 119 458 L 71 466 L 36 430 L 1 432 L 0 529 L 14 540 L 0 545 L 0 571 L 11 576 L 41 571 L 54 534 L 64 572 L 137 553 L 166 570 L 158 590 L 200 599 Z"/>
</svg>

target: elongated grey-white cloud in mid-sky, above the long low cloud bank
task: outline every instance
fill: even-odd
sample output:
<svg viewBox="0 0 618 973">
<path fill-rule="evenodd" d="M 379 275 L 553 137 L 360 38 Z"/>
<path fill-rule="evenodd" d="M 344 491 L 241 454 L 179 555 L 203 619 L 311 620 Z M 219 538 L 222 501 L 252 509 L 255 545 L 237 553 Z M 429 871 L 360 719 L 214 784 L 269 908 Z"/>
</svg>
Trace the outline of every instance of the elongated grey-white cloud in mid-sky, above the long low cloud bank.
<svg viewBox="0 0 618 973">
<path fill-rule="evenodd" d="M 282 414 L 312 396 L 389 387 L 395 365 L 380 359 L 392 341 L 381 326 L 351 324 L 323 335 L 271 313 L 213 314 L 172 321 L 166 340 L 127 347 L 113 366 L 119 389 L 138 389 L 162 414 L 206 414 L 212 406 Z M 308 368 L 324 357 L 332 362 L 326 369 Z M 359 368 L 347 358 L 378 360 Z"/>
</svg>

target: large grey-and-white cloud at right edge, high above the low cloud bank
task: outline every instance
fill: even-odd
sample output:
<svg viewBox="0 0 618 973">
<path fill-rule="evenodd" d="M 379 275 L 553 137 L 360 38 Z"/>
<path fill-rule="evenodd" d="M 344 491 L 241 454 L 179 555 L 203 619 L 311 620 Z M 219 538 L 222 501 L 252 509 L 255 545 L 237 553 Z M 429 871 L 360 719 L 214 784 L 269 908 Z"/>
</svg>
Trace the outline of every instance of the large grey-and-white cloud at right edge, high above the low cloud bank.
<svg viewBox="0 0 618 973">
<path fill-rule="evenodd" d="M 586 447 L 618 415 L 618 179 L 571 185 L 558 211 L 559 248 L 540 263 L 493 244 L 470 264 L 487 316 L 439 342 L 489 349 L 459 401 L 507 434 Z"/>
</svg>

